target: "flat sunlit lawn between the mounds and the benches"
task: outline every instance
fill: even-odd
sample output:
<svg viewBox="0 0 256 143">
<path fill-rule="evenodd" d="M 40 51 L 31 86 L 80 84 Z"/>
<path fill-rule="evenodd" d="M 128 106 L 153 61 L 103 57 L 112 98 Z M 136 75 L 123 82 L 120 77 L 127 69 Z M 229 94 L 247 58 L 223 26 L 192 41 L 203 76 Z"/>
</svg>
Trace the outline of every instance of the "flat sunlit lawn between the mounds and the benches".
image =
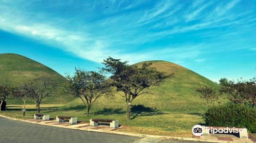
<svg viewBox="0 0 256 143">
<path fill-rule="evenodd" d="M 15 118 L 33 118 L 37 113 L 34 105 L 28 105 L 26 116 L 23 116 L 21 105 L 8 105 L 8 110 L 1 111 L 0 114 Z M 67 108 L 63 105 L 48 104 L 41 105 L 41 113 L 50 114 L 51 118 L 57 115 L 76 116 L 78 121 L 88 122 L 91 118 L 109 118 L 119 120 L 125 128 L 117 130 L 120 132 L 133 132 L 140 134 L 168 135 L 192 137 L 191 128 L 196 124 L 203 124 L 201 111 L 173 111 L 162 112 L 152 110 L 148 112 L 133 112 L 130 121 L 126 120 L 125 110 L 120 108 L 105 108 L 92 110 L 89 117 L 86 116 L 86 110 L 82 106 Z"/>
</svg>

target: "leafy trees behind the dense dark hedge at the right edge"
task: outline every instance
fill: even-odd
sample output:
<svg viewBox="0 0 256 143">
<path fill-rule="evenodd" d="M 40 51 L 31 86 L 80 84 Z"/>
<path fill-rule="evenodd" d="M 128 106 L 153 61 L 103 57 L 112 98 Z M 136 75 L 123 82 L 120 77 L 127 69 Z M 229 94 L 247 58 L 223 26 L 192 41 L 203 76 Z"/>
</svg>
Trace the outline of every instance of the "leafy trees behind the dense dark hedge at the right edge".
<svg viewBox="0 0 256 143">
<path fill-rule="evenodd" d="M 252 107 L 256 105 L 256 79 L 237 82 L 222 78 L 219 80 L 221 88 L 216 91 L 212 87 L 200 87 L 196 91 L 201 94 L 201 98 L 205 99 L 207 104 L 218 100 L 218 97 L 225 94 L 229 101 L 235 104 L 249 104 Z"/>
</svg>

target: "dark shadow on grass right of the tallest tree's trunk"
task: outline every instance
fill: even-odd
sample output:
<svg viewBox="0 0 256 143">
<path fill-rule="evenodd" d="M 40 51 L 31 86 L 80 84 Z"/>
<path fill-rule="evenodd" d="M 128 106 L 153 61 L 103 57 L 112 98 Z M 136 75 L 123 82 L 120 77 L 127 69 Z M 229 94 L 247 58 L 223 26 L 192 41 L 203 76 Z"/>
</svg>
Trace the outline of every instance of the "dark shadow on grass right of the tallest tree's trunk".
<svg viewBox="0 0 256 143">
<path fill-rule="evenodd" d="M 138 116 L 154 116 L 154 115 L 162 115 L 165 114 L 156 108 L 145 107 L 144 105 L 133 105 L 131 108 L 131 120 Z"/>
</svg>

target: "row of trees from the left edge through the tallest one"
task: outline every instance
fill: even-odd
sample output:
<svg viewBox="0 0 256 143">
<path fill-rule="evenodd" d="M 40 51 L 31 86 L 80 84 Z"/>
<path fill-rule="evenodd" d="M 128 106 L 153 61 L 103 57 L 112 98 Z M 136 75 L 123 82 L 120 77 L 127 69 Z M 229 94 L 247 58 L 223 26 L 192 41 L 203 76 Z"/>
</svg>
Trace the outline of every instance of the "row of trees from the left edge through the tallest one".
<svg viewBox="0 0 256 143">
<path fill-rule="evenodd" d="M 89 116 L 90 109 L 98 98 L 111 98 L 115 92 L 119 92 L 125 99 L 126 117 L 130 120 L 132 102 L 139 96 L 150 94 L 147 90 L 149 87 L 161 85 L 166 79 L 173 77 L 173 74 L 166 75 L 157 71 L 151 67 L 152 63 L 143 63 L 138 67 L 129 65 L 127 61 L 122 62 L 120 59 L 109 57 L 102 64 L 104 67 L 100 68 L 99 72 L 76 68 L 74 75 L 67 75 L 64 83 L 39 77 L 17 87 L 0 86 L 0 100 L 15 97 L 24 101 L 24 108 L 26 101 L 32 100 L 40 112 L 40 103 L 45 98 L 59 93 L 71 93 L 81 99 Z"/>
</svg>

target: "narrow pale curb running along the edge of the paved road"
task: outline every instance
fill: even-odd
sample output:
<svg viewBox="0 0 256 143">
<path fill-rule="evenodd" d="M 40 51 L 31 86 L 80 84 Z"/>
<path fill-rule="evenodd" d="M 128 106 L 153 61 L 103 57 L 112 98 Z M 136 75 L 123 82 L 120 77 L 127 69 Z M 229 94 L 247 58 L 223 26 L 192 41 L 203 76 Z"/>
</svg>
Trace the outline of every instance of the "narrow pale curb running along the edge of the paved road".
<svg viewBox="0 0 256 143">
<path fill-rule="evenodd" d="M 74 129 L 74 130 L 82 130 L 82 131 L 93 131 L 93 132 L 101 132 L 101 133 L 109 133 L 109 134 L 118 134 L 118 135 L 128 135 L 128 136 L 148 137 L 148 138 L 159 138 L 159 139 L 176 139 L 176 140 L 187 140 L 187 141 L 202 141 L 202 142 L 219 142 L 219 143 L 233 142 L 233 141 L 225 141 L 225 140 L 209 140 L 209 139 L 196 139 L 196 138 L 189 138 L 189 137 L 175 137 L 175 136 L 135 134 L 135 133 L 125 133 L 125 132 L 117 132 L 117 131 L 102 131 L 102 130 L 94 130 L 94 129 L 83 130 L 83 129 L 75 128 L 75 127 L 56 126 L 56 125 L 50 125 L 50 124 L 44 124 L 44 123 L 30 122 L 30 121 L 26 121 L 26 120 L 21 120 L 21 119 L 17 119 L 17 118 L 12 118 L 12 117 L 8 117 L 8 116 L 4 116 L 4 115 L 1 115 L 1 114 L 0 114 L 0 117 L 4 117 L 4 118 L 7 118 L 7 119 L 13 120 L 13 121 L 26 122 L 26 123 L 32 123 L 32 124 L 39 124 L 39 125 L 45 125 L 45 126 L 67 128 L 67 129 Z"/>
</svg>

